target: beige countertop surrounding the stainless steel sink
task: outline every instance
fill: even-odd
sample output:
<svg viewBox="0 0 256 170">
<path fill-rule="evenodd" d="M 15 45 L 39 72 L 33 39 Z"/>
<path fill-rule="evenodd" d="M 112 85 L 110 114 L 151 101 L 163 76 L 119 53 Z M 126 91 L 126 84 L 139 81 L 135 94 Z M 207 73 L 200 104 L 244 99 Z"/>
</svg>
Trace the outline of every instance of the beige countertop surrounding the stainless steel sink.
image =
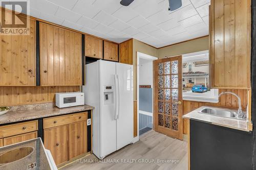
<svg viewBox="0 0 256 170">
<path fill-rule="evenodd" d="M 201 122 L 206 122 L 206 123 L 210 123 L 210 124 L 214 124 L 214 125 L 218 125 L 218 126 L 223 126 L 223 127 L 227 127 L 227 128 L 232 128 L 232 129 L 249 132 L 249 127 L 247 125 L 246 120 L 239 120 L 239 119 L 234 119 L 234 118 L 227 118 L 227 117 L 220 117 L 220 116 L 215 116 L 215 115 L 198 113 L 200 110 L 202 110 L 204 108 L 215 108 L 215 107 L 202 106 L 194 111 L 191 111 L 191 112 L 183 115 L 182 117 L 188 118 L 188 119 L 193 119 L 193 120 L 199 120 Z M 218 107 L 218 108 L 220 108 L 220 107 Z M 231 109 L 227 109 L 227 108 L 223 108 L 223 109 L 231 110 Z"/>
</svg>

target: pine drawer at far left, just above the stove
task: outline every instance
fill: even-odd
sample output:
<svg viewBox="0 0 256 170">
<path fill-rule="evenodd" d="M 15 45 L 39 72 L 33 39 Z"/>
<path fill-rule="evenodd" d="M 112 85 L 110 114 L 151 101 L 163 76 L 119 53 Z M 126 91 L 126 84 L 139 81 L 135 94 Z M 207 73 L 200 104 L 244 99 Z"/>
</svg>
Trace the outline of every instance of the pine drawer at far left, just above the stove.
<svg viewBox="0 0 256 170">
<path fill-rule="evenodd" d="M 19 135 L 23 133 L 33 132 L 38 130 L 38 122 L 37 120 L 0 126 L 0 138 Z"/>
</svg>

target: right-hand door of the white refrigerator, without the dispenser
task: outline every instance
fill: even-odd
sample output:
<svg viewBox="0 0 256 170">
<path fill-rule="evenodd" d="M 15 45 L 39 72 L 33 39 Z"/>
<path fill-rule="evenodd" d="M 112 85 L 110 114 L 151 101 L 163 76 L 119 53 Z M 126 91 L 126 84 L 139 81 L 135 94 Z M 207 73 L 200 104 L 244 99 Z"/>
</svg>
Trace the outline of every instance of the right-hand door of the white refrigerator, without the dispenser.
<svg viewBox="0 0 256 170">
<path fill-rule="evenodd" d="M 117 150 L 133 142 L 133 66 L 116 63 L 119 84 Z"/>
</svg>

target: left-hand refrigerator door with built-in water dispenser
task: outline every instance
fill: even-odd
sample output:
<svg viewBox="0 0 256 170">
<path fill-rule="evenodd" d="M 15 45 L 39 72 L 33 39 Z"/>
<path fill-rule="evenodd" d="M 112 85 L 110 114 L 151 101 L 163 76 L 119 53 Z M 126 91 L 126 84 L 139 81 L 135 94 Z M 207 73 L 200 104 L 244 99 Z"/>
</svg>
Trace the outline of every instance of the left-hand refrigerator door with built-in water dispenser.
<svg viewBox="0 0 256 170">
<path fill-rule="evenodd" d="M 114 87 L 116 63 L 101 60 L 99 63 L 99 91 L 100 91 L 100 158 L 116 151 L 116 119 L 115 119 L 115 90 L 107 90 L 108 100 L 105 98 L 105 87 Z M 115 87 L 114 87 L 115 88 Z"/>
</svg>

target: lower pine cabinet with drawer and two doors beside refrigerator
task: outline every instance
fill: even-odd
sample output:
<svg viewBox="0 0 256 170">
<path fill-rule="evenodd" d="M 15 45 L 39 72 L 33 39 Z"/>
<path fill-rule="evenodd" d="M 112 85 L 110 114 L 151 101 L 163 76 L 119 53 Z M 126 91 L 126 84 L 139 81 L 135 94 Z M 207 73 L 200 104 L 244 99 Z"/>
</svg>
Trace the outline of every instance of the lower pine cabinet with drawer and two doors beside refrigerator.
<svg viewBox="0 0 256 170">
<path fill-rule="evenodd" d="M 87 113 L 43 119 L 44 145 L 56 165 L 87 153 Z"/>
</svg>

